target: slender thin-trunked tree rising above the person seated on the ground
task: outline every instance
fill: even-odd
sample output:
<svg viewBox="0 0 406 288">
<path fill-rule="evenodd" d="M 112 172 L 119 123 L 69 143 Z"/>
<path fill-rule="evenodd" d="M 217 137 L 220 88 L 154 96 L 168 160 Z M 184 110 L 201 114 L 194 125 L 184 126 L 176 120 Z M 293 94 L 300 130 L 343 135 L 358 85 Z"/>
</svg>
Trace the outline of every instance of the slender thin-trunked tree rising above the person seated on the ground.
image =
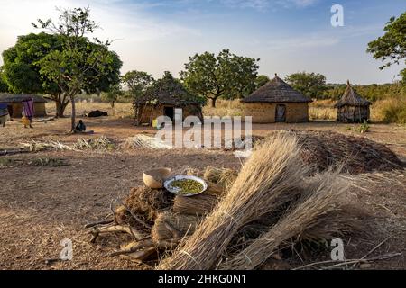
<svg viewBox="0 0 406 288">
<path fill-rule="evenodd" d="M 59 23 L 39 19 L 39 25 L 33 24 L 36 28 L 47 29 L 58 35 L 61 41 L 60 49 L 52 50 L 36 64 L 40 67 L 40 75 L 58 85 L 61 94 L 69 98 L 72 107 L 70 124 L 74 132 L 75 96 L 82 92 L 100 92 L 100 83 L 106 89 L 114 85 L 107 85 L 106 82 L 112 80 L 111 75 L 119 73 L 116 68 L 121 67 L 122 63 L 115 53 L 108 50 L 110 42 L 101 42 L 96 38 L 91 42 L 86 37 L 98 28 L 90 20 L 88 7 L 61 10 L 60 13 Z"/>
</svg>

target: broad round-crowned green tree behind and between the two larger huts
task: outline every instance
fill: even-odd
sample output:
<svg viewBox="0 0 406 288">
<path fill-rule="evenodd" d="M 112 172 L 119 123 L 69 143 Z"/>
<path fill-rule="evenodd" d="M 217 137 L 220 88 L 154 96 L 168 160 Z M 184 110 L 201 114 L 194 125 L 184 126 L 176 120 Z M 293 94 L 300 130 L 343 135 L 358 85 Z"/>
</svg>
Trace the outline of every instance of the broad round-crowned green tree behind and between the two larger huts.
<svg viewBox="0 0 406 288">
<path fill-rule="evenodd" d="M 242 98 L 255 89 L 259 59 L 245 58 L 231 54 L 228 49 L 217 56 L 205 52 L 189 58 L 180 79 L 192 93 L 211 100 L 216 107 L 219 97 Z"/>
</svg>

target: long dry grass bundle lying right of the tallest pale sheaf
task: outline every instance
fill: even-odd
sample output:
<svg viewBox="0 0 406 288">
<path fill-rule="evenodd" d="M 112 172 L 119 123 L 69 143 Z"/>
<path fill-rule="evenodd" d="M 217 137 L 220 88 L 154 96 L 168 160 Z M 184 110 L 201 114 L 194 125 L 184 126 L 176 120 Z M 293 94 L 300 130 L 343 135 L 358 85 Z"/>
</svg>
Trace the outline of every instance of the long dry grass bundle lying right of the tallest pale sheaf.
<svg viewBox="0 0 406 288">
<path fill-rule="evenodd" d="M 220 268 L 254 269 L 289 239 L 298 241 L 300 238 L 327 238 L 349 229 L 346 220 L 353 215 L 343 212 L 346 207 L 344 193 L 348 188 L 347 184 L 338 180 L 337 174 L 327 173 L 308 187 L 311 190 L 303 193 L 278 223 Z M 331 217 L 334 214 L 337 217 Z"/>
</svg>

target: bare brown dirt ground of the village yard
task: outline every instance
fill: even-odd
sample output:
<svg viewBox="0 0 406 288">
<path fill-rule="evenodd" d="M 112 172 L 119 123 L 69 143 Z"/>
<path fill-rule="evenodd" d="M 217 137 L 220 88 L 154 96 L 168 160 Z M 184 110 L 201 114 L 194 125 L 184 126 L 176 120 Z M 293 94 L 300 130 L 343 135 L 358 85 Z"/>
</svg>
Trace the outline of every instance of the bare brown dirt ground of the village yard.
<svg viewBox="0 0 406 288">
<path fill-rule="evenodd" d="M 94 135 L 86 138 L 104 135 L 115 144 L 137 133 L 155 131 L 134 127 L 131 119 L 102 117 L 84 121 L 88 129 L 95 130 Z M 84 137 L 67 133 L 69 119 L 34 122 L 33 127 L 24 129 L 20 121 L 7 122 L 5 128 L 0 128 L 0 150 L 32 139 L 69 144 Z M 406 161 L 405 126 L 372 124 L 370 131 L 364 134 L 356 131 L 358 127 L 334 121 L 314 121 L 254 124 L 253 132 L 254 135 L 266 135 L 271 130 L 334 130 L 384 143 Z M 33 159 L 43 157 L 63 159 L 66 166 L 31 164 Z M 112 200 L 123 199 L 131 187 L 142 184 L 142 172 L 148 168 L 171 166 L 175 172 L 180 172 L 187 167 L 241 166 L 232 152 L 208 149 L 136 148 L 105 153 L 47 151 L 0 158 L 11 161 L 9 165 L 0 166 L 0 269 L 143 269 L 145 266 L 121 257 L 106 257 L 119 248 L 117 243 L 121 241 L 115 241 L 115 237 L 121 236 L 100 238 L 96 244 L 90 244 L 83 226 L 105 218 Z M 351 193 L 372 213 L 365 223 L 370 235 L 346 238 L 346 258 L 363 257 L 390 237 L 370 257 L 401 252 L 403 255 L 374 261 L 365 268 L 406 268 L 406 172 L 359 175 L 356 185 Z M 60 241 L 64 238 L 73 241 L 73 259 L 45 264 L 45 259 L 59 257 Z M 292 268 L 323 259 L 329 259 L 329 250 L 317 259 L 309 256 L 291 263 L 270 260 L 263 268 Z"/>
</svg>

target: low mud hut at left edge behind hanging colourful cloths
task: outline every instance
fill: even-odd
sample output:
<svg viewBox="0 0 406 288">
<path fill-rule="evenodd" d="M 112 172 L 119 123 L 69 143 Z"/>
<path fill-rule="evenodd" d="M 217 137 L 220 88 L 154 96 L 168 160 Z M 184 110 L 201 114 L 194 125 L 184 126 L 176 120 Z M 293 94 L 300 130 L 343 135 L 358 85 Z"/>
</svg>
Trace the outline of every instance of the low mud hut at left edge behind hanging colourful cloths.
<svg viewBox="0 0 406 288">
<path fill-rule="evenodd" d="M 45 103 L 47 101 L 39 95 L 32 94 L 0 94 L 0 103 L 7 104 L 9 111 L 13 112 L 13 118 L 22 117 L 23 100 L 32 98 L 34 103 L 34 117 L 47 115 Z"/>
</svg>

